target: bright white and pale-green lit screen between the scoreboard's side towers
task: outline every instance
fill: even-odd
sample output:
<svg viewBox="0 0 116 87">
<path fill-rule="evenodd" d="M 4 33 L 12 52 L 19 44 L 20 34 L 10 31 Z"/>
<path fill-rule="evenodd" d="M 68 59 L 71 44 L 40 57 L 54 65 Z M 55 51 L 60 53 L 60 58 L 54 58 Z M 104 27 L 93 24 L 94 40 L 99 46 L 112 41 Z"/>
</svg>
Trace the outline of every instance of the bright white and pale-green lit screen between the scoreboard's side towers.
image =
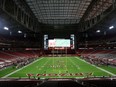
<svg viewBox="0 0 116 87">
<path fill-rule="evenodd" d="M 70 47 L 70 39 L 49 39 L 48 47 Z"/>
</svg>

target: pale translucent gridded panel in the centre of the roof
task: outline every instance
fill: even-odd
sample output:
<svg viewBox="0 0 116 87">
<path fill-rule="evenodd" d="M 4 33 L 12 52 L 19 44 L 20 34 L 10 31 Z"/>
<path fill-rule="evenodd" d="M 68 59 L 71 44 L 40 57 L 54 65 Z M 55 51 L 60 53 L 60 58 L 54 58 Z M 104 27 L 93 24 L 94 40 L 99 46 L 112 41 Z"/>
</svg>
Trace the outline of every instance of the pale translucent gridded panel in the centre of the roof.
<svg viewBox="0 0 116 87">
<path fill-rule="evenodd" d="M 26 0 L 38 21 L 45 24 L 76 24 L 91 0 Z"/>
</svg>

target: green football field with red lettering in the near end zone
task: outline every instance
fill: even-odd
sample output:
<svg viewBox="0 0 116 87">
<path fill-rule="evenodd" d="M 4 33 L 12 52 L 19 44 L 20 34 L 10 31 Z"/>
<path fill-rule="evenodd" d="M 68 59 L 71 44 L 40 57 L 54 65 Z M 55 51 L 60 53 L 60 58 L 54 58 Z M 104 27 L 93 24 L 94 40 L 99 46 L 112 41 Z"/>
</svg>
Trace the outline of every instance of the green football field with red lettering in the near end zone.
<svg viewBox="0 0 116 87">
<path fill-rule="evenodd" d="M 1 71 L 2 72 L 2 71 Z M 116 68 L 95 66 L 79 57 L 42 57 L 2 78 L 83 78 L 115 76 Z"/>
</svg>

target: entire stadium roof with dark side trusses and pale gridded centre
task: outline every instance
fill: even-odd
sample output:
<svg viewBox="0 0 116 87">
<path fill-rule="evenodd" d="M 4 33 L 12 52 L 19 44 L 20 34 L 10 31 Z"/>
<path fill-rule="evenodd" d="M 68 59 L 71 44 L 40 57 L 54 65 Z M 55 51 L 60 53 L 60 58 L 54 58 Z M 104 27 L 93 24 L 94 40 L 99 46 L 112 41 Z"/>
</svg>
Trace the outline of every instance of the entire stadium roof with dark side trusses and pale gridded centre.
<svg viewBox="0 0 116 87">
<path fill-rule="evenodd" d="M 0 3 L 1 12 L 5 12 L 4 17 L 9 21 L 11 28 L 18 26 L 22 32 L 31 30 L 35 33 L 60 35 L 61 32 L 75 34 L 91 29 L 115 8 L 116 2 L 115 0 L 1 0 Z M 9 17 L 13 20 L 9 20 Z"/>
</svg>

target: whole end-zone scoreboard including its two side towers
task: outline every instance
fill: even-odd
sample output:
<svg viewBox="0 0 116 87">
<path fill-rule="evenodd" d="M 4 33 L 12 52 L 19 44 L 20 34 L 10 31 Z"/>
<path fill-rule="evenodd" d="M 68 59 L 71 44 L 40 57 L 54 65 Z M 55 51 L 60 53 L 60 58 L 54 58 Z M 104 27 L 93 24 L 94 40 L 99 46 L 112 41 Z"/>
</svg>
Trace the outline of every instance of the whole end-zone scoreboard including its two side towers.
<svg viewBox="0 0 116 87">
<path fill-rule="evenodd" d="M 48 50 L 49 48 L 69 48 L 75 49 L 75 36 L 74 34 L 70 35 L 70 38 L 48 38 L 48 35 L 44 35 L 44 49 Z"/>
</svg>

